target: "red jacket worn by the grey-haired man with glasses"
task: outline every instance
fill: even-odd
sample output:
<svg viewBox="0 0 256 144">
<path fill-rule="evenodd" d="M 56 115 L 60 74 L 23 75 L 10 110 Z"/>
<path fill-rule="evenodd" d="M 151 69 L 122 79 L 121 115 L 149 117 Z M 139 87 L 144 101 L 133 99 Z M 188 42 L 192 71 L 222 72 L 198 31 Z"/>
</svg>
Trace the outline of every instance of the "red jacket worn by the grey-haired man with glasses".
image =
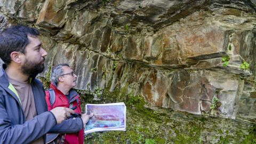
<svg viewBox="0 0 256 144">
<path fill-rule="evenodd" d="M 79 99 L 78 93 L 75 90 L 71 89 L 69 91 L 69 94 L 70 94 L 70 101 L 69 101 L 68 98 L 66 97 L 66 95 L 63 94 L 60 90 L 58 90 L 57 86 L 54 83 L 51 83 L 50 88 L 53 89 L 55 92 L 55 102 L 53 103 L 53 106 L 51 106 L 49 91 L 45 91 L 45 93 L 46 93 L 45 99 L 46 99 L 46 102 L 48 105 L 48 110 L 51 110 L 55 107 L 71 108 L 71 107 L 77 106 L 77 108 L 75 109 L 75 113 L 82 114 L 81 101 Z M 82 129 L 78 133 L 66 134 L 64 143 L 65 144 L 66 143 L 83 144 L 84 143 L 84 129 Z"/>
</svg>

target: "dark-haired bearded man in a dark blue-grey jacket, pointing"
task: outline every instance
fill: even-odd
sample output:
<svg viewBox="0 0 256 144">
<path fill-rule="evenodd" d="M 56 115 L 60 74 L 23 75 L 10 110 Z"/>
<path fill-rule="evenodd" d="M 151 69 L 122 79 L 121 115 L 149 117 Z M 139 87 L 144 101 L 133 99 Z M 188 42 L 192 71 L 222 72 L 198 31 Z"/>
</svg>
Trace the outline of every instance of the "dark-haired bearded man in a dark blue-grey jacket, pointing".
<svg viewBox="0 0 256 144">
<path fill-rule="evenodd" d="M 35 78 L 47 55 L 38 35 L 26 26 L 12 26 L 0 34 L 0 143 L 45 143 L 47 132 L 75 133 L 92 117 L 65 120 L 75 111 L 47 111 L 43 85 Z"/>
</svg>

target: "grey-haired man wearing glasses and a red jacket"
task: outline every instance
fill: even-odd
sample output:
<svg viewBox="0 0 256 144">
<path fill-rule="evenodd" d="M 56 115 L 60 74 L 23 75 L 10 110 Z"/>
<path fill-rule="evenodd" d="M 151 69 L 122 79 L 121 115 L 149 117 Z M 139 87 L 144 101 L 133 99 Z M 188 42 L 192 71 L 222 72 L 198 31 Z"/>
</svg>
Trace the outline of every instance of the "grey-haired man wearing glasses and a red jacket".
<svg viewBox="0 0 256 144">
<path fill-rule="evenodd" d="M 73 89 L 76 86 L 76 78 L 73 69 L 67 63 L 59 64 L 53 69 L 50 89 L 45 91 L 48 110 L 55 107 L 75 108 L 75 116 L 81 116 L 81 101 Z M 78 133 L 59 135 L 59 139 L 64 143 L 82 144 L 84 143 L 84 129 Z"/>
</svg>

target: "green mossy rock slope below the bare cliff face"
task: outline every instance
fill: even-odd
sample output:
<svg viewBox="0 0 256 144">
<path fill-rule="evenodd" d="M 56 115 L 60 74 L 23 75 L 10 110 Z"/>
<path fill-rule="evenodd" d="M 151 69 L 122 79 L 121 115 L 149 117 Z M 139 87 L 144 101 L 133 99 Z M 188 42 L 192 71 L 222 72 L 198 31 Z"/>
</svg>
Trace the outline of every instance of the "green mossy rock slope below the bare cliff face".
<svg viewBox="0 0 256 144">
<path fill-rule="evenodd" d="M 108 100 L 114 101 L 112 98 L 113 95 Z M 244 125 L 250 127 L 251 123 L 241 124 L 234 119 L 204 117 L 163 108 L 159 109 L 165 113 L 161 110 L 155 111 L 145 107 L 149 103 L 141 95 L 127 94 L 117 98 L 126 99 L 126 131 L 87 134 L 85 143 L 248 143 L 249 141 L 253 143 L 255 141 L 253 131 L 246 135 L 248 130 Z M 239 139 L 237 139 L 238 135 Z"/>
</svg>

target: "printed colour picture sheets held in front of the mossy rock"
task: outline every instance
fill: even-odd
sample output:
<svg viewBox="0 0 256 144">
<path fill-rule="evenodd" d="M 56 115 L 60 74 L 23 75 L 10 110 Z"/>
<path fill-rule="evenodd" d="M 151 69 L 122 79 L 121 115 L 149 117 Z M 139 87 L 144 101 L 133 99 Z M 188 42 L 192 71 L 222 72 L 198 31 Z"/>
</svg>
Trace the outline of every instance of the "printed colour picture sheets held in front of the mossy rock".
<svg viewBox="0 0 256 144">
<path fill-rule="evenodd" d="M 85 126 L 84 133 L 97 131 L 125 131 L 126 106 L 123 102 L 85 105 L 86 114 L 93 117 Z"/>
</svg>

